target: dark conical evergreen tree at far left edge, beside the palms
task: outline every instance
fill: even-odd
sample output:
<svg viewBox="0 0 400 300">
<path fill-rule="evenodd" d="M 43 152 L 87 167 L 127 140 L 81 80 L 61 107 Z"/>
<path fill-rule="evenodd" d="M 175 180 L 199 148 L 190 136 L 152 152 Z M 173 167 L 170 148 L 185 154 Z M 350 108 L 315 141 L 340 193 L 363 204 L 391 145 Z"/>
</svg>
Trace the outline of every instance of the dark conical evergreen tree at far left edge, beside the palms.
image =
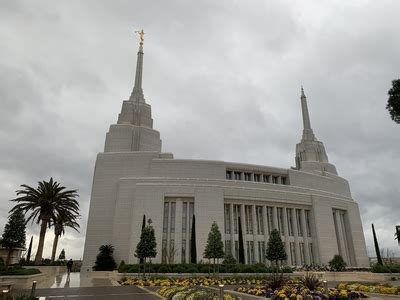
<svg viewBox="0 0 400 300">
<path fill-rule="evenodd" d="M 6 268 L 11 261 L 11 253 L 15 248 L 25 247 L 26 239 L 26 224 L 25 218 L 21 210 L 14 210 L 8 216 L 8 223 L 4 227 L 3 232 L 3 247 L 8 249 Z"/>
</svg>

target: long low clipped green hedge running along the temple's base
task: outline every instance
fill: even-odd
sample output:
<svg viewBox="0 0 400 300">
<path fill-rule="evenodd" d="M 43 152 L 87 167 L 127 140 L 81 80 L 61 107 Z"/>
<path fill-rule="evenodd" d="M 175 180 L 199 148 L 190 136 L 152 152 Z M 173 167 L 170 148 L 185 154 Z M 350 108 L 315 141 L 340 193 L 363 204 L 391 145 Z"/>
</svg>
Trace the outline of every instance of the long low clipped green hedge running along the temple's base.
<svg viewBox="0 0 400 300">
<path fill-rule="evenodd" d="M 219 265 L 216 270 L 219 273 L 272 273 L 271 267 L 263 264 L 252 265 Z M 213 266 L 208 264 L 146 264 L 146 272 L 148 273 L 209 273 L 212 272 Z M 139 264 L 125 264 L 121 262 L 118 267 L 119 273 L 139 273 L 143 271 L 143 266 Z M 284 273 L 292 273 L 292 268 L 284 267 Z"/>
</svg>

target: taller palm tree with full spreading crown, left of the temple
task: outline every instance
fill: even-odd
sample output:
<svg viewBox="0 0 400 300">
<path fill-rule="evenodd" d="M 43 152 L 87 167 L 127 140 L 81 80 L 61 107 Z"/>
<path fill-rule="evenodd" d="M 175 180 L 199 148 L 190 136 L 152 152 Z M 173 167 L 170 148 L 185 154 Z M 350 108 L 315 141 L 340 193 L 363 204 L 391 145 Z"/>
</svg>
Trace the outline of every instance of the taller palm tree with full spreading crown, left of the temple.
<svg viewBox="0 0 400 300">
<path fill-rule="evenodd" d="M 26 184 L 21 187 L 23 189 L 17 190 L 17 195 L 21 197 L 11 200 L 18 204 L 10 212 L 18 209 L 21 209 L 25 215 L 31 212 L 26 222 L 33 223 L 36 220 L 37 224 L 40 223 L 39 245 L 35 257 L 35 265 L 38 265 L 42 261 L 46 229 L 51 226 L 51 222 L 55 222 L 60 214 L 79 215 L 79 203 L 75 199 L 78 194 L 76 190 L 65 190 L 65 187 L 53 181 L 53 178 L 50 178 L 48 182 L 39 181 L 36 189 Z"/>
</svg>

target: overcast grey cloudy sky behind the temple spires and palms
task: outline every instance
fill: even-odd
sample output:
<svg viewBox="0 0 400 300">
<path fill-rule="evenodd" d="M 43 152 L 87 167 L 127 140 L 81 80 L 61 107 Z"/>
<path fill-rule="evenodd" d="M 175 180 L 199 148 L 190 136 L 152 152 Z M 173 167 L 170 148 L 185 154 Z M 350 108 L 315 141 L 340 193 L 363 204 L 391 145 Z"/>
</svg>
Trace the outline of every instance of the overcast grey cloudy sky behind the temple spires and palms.
<svg viewBox="0 0 400 300">
<path fill-rule="evenodd" d="M 293 166 L 304 85 L 314 132 L 360 205 L 369 253 L 374 223 L 380 246 L 400 256 L 400 125 L 385 109 L 400 77 L 399 1 L 0 6 L 0 230 L 19 186 L 52 176 L 79 190 L 81 231 L 67 231 L 59 251 L 82 257 L 96 154 L 129 98 L 143 28 L 144 94 L 164 151 Z M 27 233 L 36 247 L 38 227 Z"/>
</svg>

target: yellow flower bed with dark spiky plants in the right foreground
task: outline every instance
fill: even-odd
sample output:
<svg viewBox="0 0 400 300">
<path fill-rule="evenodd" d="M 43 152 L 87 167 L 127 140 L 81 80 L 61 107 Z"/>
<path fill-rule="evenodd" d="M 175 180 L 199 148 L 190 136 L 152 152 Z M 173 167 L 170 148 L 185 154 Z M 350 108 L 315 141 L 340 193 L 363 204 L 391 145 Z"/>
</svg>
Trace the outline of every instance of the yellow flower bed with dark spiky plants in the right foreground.
<svg viewBox="0 0 400 300">
<path fill-rule="evenodd" d="M 238 287 L 235 291 L 260 297 L 273 298 L 273 299 L 360 299 L 367 298 L 362 292 L 340 290 L 335 288 L 328 289 L 328 294 L 325 293 L 323 288 L 317 288 L 316 291 L 310 291 L 301 285 L 286 285 L 279 290 L 273 291 L 269 288 L 261 286 L 253 287 Z"/>
</svg>

